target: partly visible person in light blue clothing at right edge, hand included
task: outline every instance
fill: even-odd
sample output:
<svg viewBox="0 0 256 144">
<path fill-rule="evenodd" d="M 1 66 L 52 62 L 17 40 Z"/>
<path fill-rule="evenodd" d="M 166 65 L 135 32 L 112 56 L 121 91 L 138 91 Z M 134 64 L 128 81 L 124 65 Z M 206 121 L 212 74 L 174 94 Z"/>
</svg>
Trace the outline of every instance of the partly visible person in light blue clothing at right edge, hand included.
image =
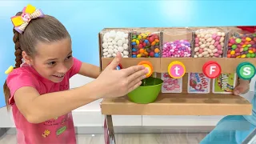
<svg viewBox="0 0 256 144">
<path fill-rule="evenodd" d="M 238 86 L 234 88 L 234 94 L 246 94 L 250 90 L 250 81 L 238 79 L 238 82 Z M 254 97 L 249 100 L 253 106 L 252 114 L 230 115 L 222 118 L 200 144 L 240 144 L 256 128 L 256 81 L 254 83 Z"/>
</svg>

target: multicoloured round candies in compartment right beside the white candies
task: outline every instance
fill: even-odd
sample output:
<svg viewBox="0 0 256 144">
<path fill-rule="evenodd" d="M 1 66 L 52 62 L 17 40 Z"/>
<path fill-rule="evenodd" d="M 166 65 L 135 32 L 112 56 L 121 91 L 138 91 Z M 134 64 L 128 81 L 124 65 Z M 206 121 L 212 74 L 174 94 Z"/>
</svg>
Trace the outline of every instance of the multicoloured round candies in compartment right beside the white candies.
<svg viewBox="0 0 256 144">
<path fill-rule="evenodd" d="M 159 58 L 159 35 L 150 32 L 133 32 L 131 38 L 132 58 Z"/>
</svg>

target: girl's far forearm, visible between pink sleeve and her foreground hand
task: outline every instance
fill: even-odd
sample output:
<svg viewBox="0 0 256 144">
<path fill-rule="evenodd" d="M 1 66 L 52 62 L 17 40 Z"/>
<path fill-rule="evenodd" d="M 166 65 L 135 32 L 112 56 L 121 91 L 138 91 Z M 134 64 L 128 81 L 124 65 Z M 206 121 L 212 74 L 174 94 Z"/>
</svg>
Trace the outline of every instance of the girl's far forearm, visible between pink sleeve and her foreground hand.
<svg viewBox="0 0 256 144">
<path fill-rule="evenodd" d="M 94 66 L 89 63 L 82 62 L 82 66 L 78 74 L 81 74 L 83 76 L 90 77 L 90 78 L 98 78 L 100 74 L 100 68 L 98 66 Z"/>
</svg>

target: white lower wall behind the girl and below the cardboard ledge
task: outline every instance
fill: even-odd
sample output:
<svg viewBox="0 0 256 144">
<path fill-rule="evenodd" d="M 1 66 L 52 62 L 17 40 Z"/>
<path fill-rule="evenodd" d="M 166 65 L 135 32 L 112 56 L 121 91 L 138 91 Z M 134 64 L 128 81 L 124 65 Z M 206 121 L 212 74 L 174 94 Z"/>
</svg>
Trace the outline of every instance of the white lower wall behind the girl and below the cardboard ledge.
<svg viewBox="0 0 256 144">
<path fill-rule="evenodd" d="M 253 78 L 250 91 L 254 91 Z M 75 75 L 70 79 L 70 88 L 82 86 L 91 82 L 92 78 Z M 75 126 L 103 126 L 104 116 L 99 103 L 91 102 L 73 111 Z M 114 126 L 215 126 L 222 116 L 113 116 Z M 14 127 L 11 113 L 6 108 L 0 109 L 0 127 Z"/>
</svg>

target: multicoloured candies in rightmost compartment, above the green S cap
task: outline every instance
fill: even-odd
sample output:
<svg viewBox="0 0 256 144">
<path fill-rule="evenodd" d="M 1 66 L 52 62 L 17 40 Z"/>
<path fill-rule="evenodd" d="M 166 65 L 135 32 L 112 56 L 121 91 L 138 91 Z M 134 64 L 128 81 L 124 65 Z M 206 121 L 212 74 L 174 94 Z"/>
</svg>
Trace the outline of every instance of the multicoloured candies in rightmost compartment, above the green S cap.
<svg viewBox="0 0 256 144">
<path fill-rule="evenodd" d="M 256 34 L 244 34 L 230 37 L 227 58 L 255 58 Z"/>
</svg>

